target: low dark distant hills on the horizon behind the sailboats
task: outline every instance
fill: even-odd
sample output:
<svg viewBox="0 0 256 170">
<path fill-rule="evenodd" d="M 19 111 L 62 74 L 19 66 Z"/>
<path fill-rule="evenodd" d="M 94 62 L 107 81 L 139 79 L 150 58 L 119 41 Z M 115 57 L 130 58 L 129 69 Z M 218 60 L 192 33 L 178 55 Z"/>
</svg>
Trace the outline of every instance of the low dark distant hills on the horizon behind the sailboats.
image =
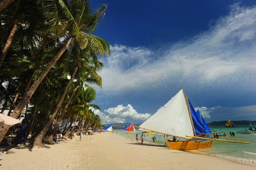
<svg viewBox="0 0 256 170">
<path fill-rule="evenodd" d="M 239 120 L 239 121 L 232 121 L 235 125 L 248 125 L 250 126 L 250 122 L 251 124 L 254 126 L 256 125 L 256 121 L 250 121 L 250 120 Z M 211 125 L 225 125 L 225 123 L 227 123 L 227 120 L 224 121 L 212 121 L 211 123 L 207 123 L 209 126 Z M 112 124 L 108 124 L 108 125 L 112 125 L 113 129 L 122 129 L 124 128 L 126 125 L 131 125 L 131 123 L 112 123 Z M 104 125 L 104 126 L 108 126 L 108 125 Z M 134 126 L 138 127 L 141 125 L 141 123 L 133 123 Z"/>
</svg>

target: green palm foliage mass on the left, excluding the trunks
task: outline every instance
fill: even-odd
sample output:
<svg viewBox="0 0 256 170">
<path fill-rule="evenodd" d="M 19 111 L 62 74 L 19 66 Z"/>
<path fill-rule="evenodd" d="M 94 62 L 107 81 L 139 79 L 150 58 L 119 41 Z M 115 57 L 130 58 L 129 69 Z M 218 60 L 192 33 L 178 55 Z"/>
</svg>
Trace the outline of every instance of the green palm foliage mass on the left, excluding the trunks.
<svg viewBox="0 0 256 170">
<path fill-rule="evenodd" d="M 100 118 L 94 114 L 92 108 L 100 107 L 91 104 L 96 93 L 87 83 L 102 87 L 102 79 L 97 72 L 104 65 L 98 60 L 98 56 L 109 55 L 109 44 L 106 40 L 93 35 L 93 31 L 104 18 L 106 8 L 106 5 L 102 5 L 92 13 L 89 1 L 84 0 L 17 0 L 2 10 L 1 49 L 14 24 L 18 24 L 18 29 L 0 70 L 0 102 L 10 106 L 19 92 L 20 96 L 15 105 L 19 104 L 27 88 L 39 78 L 52 58 L 72 37 L 68 48 L 30 98 L 30 104 L 33 104 L 34 109 L 29 115 L 29 122 L 36 120 L 35 116 L 44 121 L 49 119 L 67 86 L 68 77 L 78 68 L 63 106 L 72 89 L 79 86 L 67 113 L 74 117 L 78 114 L 99 127 Z M 3 86 L 3 82 L 7 86 Z M 38 128 L 38 125 L 44 125 L 42 122 L 34 121 L 33 129 Z"/>
</svg>

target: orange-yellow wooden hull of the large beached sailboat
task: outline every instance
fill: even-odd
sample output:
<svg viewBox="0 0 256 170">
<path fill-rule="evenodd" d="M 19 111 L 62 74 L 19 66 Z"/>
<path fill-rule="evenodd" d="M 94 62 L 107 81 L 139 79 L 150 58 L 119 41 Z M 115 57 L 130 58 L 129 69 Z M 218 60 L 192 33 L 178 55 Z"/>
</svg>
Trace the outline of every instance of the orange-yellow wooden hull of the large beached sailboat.
<svg viewBox="0 0 256 170">
<path fill-rule="evenodd" d="M 166 141 L 166 143 L 168 144 L 170 150 L 198 150 L 212 147 L 212 141 Z"/>
</svg>

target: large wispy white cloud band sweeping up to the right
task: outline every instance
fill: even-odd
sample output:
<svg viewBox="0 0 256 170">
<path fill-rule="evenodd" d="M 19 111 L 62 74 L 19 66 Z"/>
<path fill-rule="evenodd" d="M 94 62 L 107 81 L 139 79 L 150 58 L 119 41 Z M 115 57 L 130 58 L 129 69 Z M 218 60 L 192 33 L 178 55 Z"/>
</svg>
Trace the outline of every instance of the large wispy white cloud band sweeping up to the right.
<svg viewBox="0 0 256 170">
<path fill-rule="evenodd" d="M 156 52 L 112 45 L 100 72 L 103 91 L 127 91 L 159 84 L 256 80 L 256 7 L 232 6 L 211 30 Z"/>
</svg>

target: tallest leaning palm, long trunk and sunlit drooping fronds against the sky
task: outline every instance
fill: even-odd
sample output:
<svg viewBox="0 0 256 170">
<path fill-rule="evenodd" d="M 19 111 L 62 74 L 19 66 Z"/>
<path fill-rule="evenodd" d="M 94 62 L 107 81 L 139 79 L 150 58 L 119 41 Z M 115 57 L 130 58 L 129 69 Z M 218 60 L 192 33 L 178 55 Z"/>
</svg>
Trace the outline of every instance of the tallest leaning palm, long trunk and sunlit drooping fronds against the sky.
<svg viewBox="0 0 256 170">
<path fill-rule="evenodd" d="M 68 31 L 68 35 L 65 37 L 66 40 L 65 40 L 63 47 L 56 54 L 56 56 L 54 56 L 54 58 L 52 58 L 51 62 L 49 62 L 49 64 L 45 67 L 45 70 L 40 74 L 40 76 L 38 76 L 38 79 L 36 79 L 36 81 L 29 88 L 28 92 L 26 93 L 26 95 L 24 95 L 24 97 L 23 97 L 22 101 L 19 103 L 19 105 L 17 105 L 17 107 L 15 107 L 15 109 L 11 115 L 13 118 L 17 118 L 17 116 L 19 116 L 20 111 L 22 111 L 26 102 L 28 102 L 29 99 L 32 97 L 36 88 L 39 86 L 40 82 L 42 82 L 42 79 L 44 79 L 45 75 L 47 75 L 49 70 L 51 70 L 52 66 L 54 66 L 56 61 L 58 61 L 58 59 L 60 59 L 63 52 L 65 52 L 65 50 L 68 48 L 68 45 L 70 45 L 72 38 L 76 38 L 77 42 L 79 42 L 81 49 L 84 49 L 85 47 L 87 47 L 87 45 L 89 43 L 90 45 L 92 45 L 92 47 L 94 47 L 94 49 L 99 54 L 106 54 L 106 51 L 109 50 L 109 48 L 107 48 L 108 45 L 105 45 L 107 43 L 104 40 L 100 39 L 97 36 L 93 36 L 90 34 L 90 32 L 92 32 L 95 29 L 95 26 L 97 24 L 97 22 L 95 23 L 95 20 L 97 21 L 98 18 L 95 18 L 95 16 L 102 17 L 102 15 L 104 14 L 104 11 L 99 11 L 99 12 L 95 13 L 95 15 L 93 15 L 93 17 L 89 17 L 90 20 L 86 20 L 86 18 L 83 17 L 83 15 L 88 15 L 88 11 L 90 11 L 90 8 L 86 8 L 88 6 L 88 3 L 81 3 L 81 0 L 76 0 L 76 1 L 74 1 L 74 3 L 77 3 L 77 5 L 74 5 L 74 7 L 76 7 L 77 9 L 74 11 L 77 12 L 80 10 L 80 12 L 82 14 L 82 16 L 78 17 L 79 20 L 77 20 L 77 22 L 76 22 L 76 20 L 71 15 L 70 10 L 68 10 L 65 3 L 63 1 L 61 1 L 61 2 L 62 3 L 60 3 L 59 5 L 61 5 L 61 10 L 63 10 L 65 12 L 65 14 L 67 15 L 67 17 L 70 18 L 69 23 L 70 23 L 71 29 L 70 29 L 70 31 Z M 73 1 L 71 1 L 71 2 L 73 2 Z M 78 6 L 78 4 L 80 4 L 82 6 Z M 55 4 L 55 6 L 56 6 L 56 8 L 58 7 L 57 4 Z M 106 6 L 104 6 L 104 8 L 100 8 L 100 10 L 106 10 Z M 101 15 L 99 15 L 99 14 L 101 14 Z M 95 20 L 92 20 L 92 18 Z M 86 23 L 86 24 L 83 24 L 83 23 Z M 77 24 L 79 24 L 79 26 Z M 80 29 L 83 29 L 83 30 L 80 31 Z M 83 31 L 87 31 L 89 33 L 85 33 Z M 88 40 L 88 42 L 86 40 Z"/>
</svg>

